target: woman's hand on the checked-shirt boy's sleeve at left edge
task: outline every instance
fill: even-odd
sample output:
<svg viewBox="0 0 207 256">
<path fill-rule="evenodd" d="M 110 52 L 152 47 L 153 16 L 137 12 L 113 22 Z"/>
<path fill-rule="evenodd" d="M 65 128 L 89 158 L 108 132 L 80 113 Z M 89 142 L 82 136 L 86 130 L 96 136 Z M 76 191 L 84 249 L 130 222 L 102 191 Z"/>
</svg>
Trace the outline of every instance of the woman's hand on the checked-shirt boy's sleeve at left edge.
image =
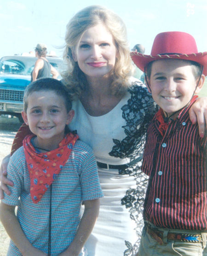
<svg viewBox="0 0 207 256">
<path fill-rule="evenodd" d="M 9 186 L 14 185 L 11 180 L 6 179 L 7 166 L 8 166 L 8 163 L 9 163 L 9 159 L 10 159 L 10 155 L 4 157 L 4 159 L 2 160 L 2 163 L 1 163 L 1 167 L 0 167 L 0 199 L 4 198 L 4 192 L 7 195 L 11 194 L 7 185 L 9 185 Z"/>
</svg>

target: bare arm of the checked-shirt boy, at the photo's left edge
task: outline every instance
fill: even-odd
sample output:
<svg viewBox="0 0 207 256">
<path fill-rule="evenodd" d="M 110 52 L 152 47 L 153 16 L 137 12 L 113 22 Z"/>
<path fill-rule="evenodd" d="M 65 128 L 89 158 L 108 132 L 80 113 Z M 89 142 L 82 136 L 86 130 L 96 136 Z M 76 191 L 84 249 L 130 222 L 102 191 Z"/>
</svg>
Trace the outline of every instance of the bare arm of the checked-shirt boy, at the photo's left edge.
<svg viewBox="0 0 207 256">
<path fill-rule="evenodd" d="M 0 221 L 6 229 L 11 240 L 16 244 L 23 256 L 46 256 L 46 253 L 36 249 L 23 233 L 23 230 L 15 215 L 15 206 L 10 206 L 1 202 Z"/>
</svg>

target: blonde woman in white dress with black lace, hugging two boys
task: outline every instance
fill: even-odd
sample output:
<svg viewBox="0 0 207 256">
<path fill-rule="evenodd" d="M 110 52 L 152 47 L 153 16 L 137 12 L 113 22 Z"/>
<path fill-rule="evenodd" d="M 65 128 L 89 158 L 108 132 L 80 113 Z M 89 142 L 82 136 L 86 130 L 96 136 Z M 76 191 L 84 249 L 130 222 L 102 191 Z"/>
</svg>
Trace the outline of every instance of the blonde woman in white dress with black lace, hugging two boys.
<svg viewBox="0 0 207 256">
<path fill-rule="evenodd" d="M 85 246 L 90 256 L 134 256 L 148 183 L 140 167 L 156 105 L 146 86 L 132 77 L 126 26 L 114 12 L 102 6 L 77 12 L 67 25 L 65 44 L 63 82 L 74 94 L 75 110 L 69 128 L 92 147 L 104 192 L 98 221 Z M 194 111 L 198 114 L 201 135 L 206 105 L 206 98 L 198 99 L 190 112 L 194 122 Z M 18 131 L 12 153 L 29 133 L 26 128 L 23 125 Z M 5 177 L 8 159 L 0 172 L 6 193 L 6 184 L 12 186 Z"/>
</svg>

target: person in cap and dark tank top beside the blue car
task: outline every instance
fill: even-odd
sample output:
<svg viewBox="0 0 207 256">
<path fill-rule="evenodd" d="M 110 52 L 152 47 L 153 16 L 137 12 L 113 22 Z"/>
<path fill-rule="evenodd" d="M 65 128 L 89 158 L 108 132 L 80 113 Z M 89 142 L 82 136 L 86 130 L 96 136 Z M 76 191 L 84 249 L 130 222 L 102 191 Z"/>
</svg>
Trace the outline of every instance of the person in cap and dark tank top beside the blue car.
<svg viewBox="0 0 207 256">
<path fill-rule="evenodd" d="M 57 78 L 59 76 L 58 71 L 48 62 L 46 59 L 47 47 L 45 44 L 39 43 L 35 47 L 35 62 L 34 69 L 31 73 L 31 81 L 36 81 L 40 78 L 50 77 Z"/>
</svg>

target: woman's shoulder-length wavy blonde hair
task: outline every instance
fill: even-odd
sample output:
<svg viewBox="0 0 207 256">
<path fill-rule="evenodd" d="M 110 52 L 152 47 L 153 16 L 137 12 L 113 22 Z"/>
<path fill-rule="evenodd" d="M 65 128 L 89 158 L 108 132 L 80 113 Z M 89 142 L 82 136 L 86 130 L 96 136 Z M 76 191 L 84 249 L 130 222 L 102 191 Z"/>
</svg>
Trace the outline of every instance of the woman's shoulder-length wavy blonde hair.
<svg viewBox="0 0 207 256">
<path fill-rule="evenodd" d="M 111 71 L 111 93 L 118 95 L 124 93 L 128 87 L 129 76 L 132 75 L 133 65 L 127 42 L 127 29 L 122 19 L 114 12 L 102 6 L 88 6 L 77 12 L 67 24 L 65 35 L 66 46 L 63 58 L 67 62 L 67 70 L 62 74 L 64 83 L 70 87 L 72 93 L 80 95 L 86 88 L 85 74 L 78 63 L 74 61 L 72 52 L 75 51 L 81 35 L 92 26 L 103 23 L 115 40 L 116 61 Z"/>
</svg>

